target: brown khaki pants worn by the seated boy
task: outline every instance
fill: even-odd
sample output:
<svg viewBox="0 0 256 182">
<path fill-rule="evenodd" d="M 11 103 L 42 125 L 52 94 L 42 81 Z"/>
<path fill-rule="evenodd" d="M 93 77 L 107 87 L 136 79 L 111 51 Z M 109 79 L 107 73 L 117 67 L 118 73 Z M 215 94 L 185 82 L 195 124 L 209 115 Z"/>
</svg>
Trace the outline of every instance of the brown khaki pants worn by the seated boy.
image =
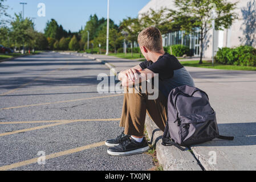
<svg viewBox="0 0 256 182">
<path fill-rule="evenodd" d="M 124 127 L 124 134 L 142 137 L 144 135 L 144 125 L 146 112 L 164 131 L 167 119 L 167 98 L 160 93 L 156 100 L 148 100 L 148 92 L 142 93 L 139 89 L 132 88 L 132 93 L 128 93 L 128 87 L 124 87 L 127 92 L 124 94 L 123 111 L 121 115 L 120 127 Z M 131 88 L 130 88 L 131 89 Z M 137 93 L 135 93 L 135 89 Z"/>
</svg>

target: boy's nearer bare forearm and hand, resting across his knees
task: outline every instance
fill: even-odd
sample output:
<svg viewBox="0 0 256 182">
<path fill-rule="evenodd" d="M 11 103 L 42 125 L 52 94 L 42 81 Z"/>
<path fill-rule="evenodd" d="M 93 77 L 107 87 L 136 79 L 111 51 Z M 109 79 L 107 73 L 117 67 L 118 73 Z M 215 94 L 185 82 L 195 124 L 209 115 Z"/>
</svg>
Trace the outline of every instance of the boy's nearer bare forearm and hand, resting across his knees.
<svg viewBox="0 0 256 182">
<path fill-rule="evenodd" d="M 122 78 L 122 85 L 123 86 L 133 86 L 135 84 L 139 84 L 143 81 L 148 80 L 149 78 L 154 77 L 154 72 L 152 72 L 150 69 L 143 69 L 142 71 L 137 72 L 138 76 L 137 78 L 134 77 L 133 80 L 130 80 L 128 76 L 124 76 Z"/>
</svg>

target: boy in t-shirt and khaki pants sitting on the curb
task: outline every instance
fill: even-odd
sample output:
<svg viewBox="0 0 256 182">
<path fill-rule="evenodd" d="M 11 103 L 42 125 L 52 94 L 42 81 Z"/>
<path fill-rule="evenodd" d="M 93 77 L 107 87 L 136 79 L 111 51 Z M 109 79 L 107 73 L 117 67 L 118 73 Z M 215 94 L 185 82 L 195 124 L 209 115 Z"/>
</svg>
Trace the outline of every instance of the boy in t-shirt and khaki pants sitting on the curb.
<svg viewBox="0 0 256 182">
<path fill-rule="evenodd" d="M 124 131 L 115 139 L 105 142 L 109 146 L 107 152 L 110 155 L 133 155 L 148 151 L 147 140 L 143 137 L 146 113 L 164 131 L 170 91 L 177 86 L 195 86 L 189 72 L 176 57 L 164 52 L 159 29 L 145 28 L 138 36 L 138 43 L 146 60 L 119 73 L 118 78 L 125 91 L 120 121 Z M 154 100 L 149 99 L 151 93 L 148 89 L 144 90 L 141 86 L 149 78 L 159 79 L 158 97 Z M 139 87 L 136 87 L 136 83 L 140 84 Z"/>
</svg>

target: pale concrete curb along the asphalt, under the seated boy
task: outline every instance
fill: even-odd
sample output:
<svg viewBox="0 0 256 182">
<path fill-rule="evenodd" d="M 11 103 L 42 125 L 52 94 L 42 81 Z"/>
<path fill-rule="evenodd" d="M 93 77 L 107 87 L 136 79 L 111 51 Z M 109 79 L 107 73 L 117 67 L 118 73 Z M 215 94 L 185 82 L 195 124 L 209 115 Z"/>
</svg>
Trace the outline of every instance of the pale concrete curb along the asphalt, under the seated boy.
<svg viewBox="0 0 256 182">
<path fill-rule="evenodd" d="M 84 56 L 99 63 L 105 64 L 111 71 L 117 75 L 115 67 L 107 61 L 96 59 L 92 56 L 84 54 L 69 53 L 70 55 Z M 152 121 L 149 115 L 146 115 L 145 129 L 147 130 L 148 137 L 151 138 L 151 144 L 156 147 L 156 157 L 159 164 L 162 165 L 164 171 L 202 171 L 200 164 L 189 150 L 181 151 L 175 146 L 163 146 L 162 135 L 164 134 L 159 127 Z"/>
</svg>

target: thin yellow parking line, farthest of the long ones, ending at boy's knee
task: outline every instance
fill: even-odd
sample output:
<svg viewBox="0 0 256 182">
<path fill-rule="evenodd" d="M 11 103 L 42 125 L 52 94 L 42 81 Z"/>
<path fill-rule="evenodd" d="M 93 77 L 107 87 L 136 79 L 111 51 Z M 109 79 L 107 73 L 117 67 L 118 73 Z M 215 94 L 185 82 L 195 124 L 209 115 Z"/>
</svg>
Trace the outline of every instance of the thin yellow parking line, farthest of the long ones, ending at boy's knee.
<svg viewBox="0 0 256 182">
<path fill-rule="evenodd" d="M 115 94 L 115 95 L 111 95 L 111 96 L 79 98 L 79 99 L 76 99 L 76 100 L 46 102 L 46 103 L 40 103 L 40 104 L 31 104 L 31 105 L 14 106 L 14 107 L 5 107 L 5 108 L 0 108 L 0 110 L 18 109 L 18 108 L 22 108 L 22 107 L 31 107 L 31 106 L 40 106 L 40 105 L 49 105 L 49 104 L 59 104 L 59 103 L 66 103 L 66 102 L 85 101 L 85 100 L 91 100 L 91 99 L 96 99 L 96 98 L 106 98 L 106 97 L 115 97 L 115 96 L 123 96 L 123 94 Z"/>
</svg>

